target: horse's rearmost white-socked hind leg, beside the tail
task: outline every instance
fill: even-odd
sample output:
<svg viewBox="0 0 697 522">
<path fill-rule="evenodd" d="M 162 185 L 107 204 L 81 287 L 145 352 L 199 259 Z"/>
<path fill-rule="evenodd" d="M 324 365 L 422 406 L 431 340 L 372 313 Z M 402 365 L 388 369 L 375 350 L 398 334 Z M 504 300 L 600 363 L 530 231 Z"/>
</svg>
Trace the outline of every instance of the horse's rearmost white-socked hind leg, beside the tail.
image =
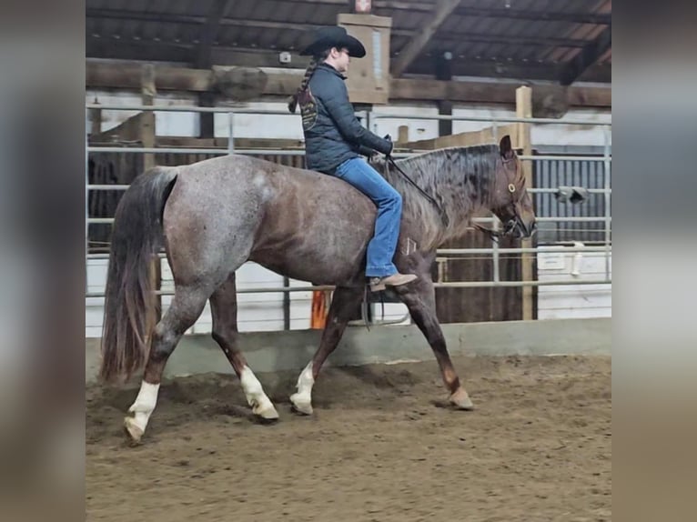
<svg viewBox="0 0 697 522">
<path fill-rule="evenodd" d="M 140 441 L 147 422 L 157 404 L 157 392 L 167 359 L 174 351 L 181 336 L 196 323 L 201 315 L 210 291 L 200 286 L 177 286 L 172 304 L 162 317 L 150 340 L 150 353 L 145 374 L 136 401 L 128 409 L 133 417 L 126 417 L 124 427 L 128 435 Z"/>
</svg>

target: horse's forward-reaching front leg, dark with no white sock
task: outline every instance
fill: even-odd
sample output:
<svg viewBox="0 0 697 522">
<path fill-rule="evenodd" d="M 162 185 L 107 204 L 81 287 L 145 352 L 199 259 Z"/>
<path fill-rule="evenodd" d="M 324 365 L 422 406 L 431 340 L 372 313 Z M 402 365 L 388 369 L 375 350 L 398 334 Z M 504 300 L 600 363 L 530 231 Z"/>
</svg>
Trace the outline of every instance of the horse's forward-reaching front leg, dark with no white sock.
<svg viewBox="0 0 697 522">
<path fill-rule="evenodd" d="M 419 330 L 426 336 L 433 353 L 438 360 L 443 382 L 450 391 L 450 403 L 460 409 L 472 409 L 474 405 L 465 388 L 460 385 L 460 378 L 452 366 L 445 337 L 436 316 L 436 290 L 428 272 L 419 274 L 419 279 L 405 286 L 395 286 L 394 292 L 409 308 L 409 314 Z"/>
</svg>

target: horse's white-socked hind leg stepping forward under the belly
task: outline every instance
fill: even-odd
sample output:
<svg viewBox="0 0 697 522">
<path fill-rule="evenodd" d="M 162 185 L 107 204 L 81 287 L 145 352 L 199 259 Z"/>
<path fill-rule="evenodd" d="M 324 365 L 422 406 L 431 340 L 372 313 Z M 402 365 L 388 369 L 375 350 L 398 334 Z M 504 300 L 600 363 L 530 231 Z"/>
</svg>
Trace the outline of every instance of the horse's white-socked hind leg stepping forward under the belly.
<svg viewBox="0 0 697 522">
<path fill-rule="evenodd" d="M 278 412 L 271 403 L 257 376 L 247 366 L 247 361 L 238 348 L 237 334 L 237 288 L 235 273 L 227 277 L 223 285 L 210 296 L 210 309 L 213 316 L 213 338 L 223 349 L 227 360 L 235 369 L 247 403 L 252 411 L 264 420 L 278 419 Z"/>
</svg>

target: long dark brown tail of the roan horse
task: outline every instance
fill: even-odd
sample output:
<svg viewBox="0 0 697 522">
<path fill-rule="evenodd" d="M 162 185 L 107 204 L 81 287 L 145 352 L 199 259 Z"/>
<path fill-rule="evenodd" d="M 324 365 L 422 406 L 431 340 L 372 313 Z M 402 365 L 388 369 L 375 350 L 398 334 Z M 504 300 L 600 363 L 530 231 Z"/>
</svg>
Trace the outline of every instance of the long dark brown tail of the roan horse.
<svg viewBox="0 0 697 522">
<path fill-rule="evenodd" d="M 162 214 L 177 170 L 137 176 L 116 207 L 106 276 L 100 376 L 126 380 L 146 362 L 157 312 L 149 261 L 162 246 Z"/>
</svg>

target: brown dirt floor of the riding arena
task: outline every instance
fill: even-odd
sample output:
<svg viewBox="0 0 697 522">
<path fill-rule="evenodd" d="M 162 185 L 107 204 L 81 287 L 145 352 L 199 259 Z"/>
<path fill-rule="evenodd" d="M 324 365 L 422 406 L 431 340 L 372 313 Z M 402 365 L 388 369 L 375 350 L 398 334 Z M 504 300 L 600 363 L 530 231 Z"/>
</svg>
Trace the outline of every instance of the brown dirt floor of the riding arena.
<svg viewBox="0 0 697 522">
<path fill-rule="evenodd" d="M 179 378 L 136 447 L 136 390 L 88 387 L 86 520 L 610 520 L 610 357 L 454 362 L 474 411 L 444 407 L 435 362 L 327 367 L 313 417 L 289 409 L 298 372 L 259 374 L 272 426 L 236 377 Z"/>
</svg>

